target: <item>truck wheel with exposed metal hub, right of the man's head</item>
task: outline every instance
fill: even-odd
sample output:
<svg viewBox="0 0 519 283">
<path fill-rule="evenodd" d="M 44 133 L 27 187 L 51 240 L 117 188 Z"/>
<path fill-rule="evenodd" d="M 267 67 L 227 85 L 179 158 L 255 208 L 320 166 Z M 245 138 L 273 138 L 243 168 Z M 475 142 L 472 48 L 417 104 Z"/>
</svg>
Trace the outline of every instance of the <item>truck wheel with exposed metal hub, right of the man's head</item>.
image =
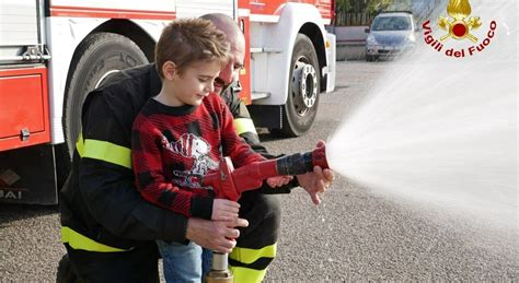
<svg viewBox="0 0 519 283">
<path fill-rule="evenodd" d="M 290 61 L 288 98 L 282 106 L 281 129 L 277 135 L 293 138 L 307 133 L 318 114 L 321 74 L 318 55 L 307 35 L 298 34 Z"/>
</svg>

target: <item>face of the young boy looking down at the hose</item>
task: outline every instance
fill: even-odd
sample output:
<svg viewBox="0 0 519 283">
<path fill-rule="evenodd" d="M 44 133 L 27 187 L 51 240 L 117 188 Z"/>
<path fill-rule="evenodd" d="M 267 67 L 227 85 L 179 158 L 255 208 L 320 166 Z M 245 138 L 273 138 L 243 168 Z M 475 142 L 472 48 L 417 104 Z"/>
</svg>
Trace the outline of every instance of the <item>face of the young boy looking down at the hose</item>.
<svg viewBox="0 0 519 283">
<path fill-rule="evenodd" d="M 182 73 L 175 71 L 168 80 L 171 101 L 175 106 L 200 105 L 204 97 L 215 91 L 214 82 L 220 69 L 218 61 L 200 61 L 188 66 Z"/>
</svg>

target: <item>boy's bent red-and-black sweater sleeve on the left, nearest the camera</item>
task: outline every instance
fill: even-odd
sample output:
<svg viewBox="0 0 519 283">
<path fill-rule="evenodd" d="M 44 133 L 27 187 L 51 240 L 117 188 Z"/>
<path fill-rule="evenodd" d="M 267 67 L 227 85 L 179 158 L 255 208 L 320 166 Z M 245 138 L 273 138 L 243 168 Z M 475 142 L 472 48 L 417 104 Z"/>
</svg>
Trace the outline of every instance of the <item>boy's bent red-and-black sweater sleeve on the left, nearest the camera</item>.
<svg viewBox="0 0 519 283">
<path fill-rule="evenodd" d="M 162 133 L 139 115 L 131 133 L 132 164 L 136 187 L 142 198 L 158 207 L 187 217 L 211 219 L 212 191 L 180 189 L 165 179 L 161 150 L 168 142 Z"/>
</svg>

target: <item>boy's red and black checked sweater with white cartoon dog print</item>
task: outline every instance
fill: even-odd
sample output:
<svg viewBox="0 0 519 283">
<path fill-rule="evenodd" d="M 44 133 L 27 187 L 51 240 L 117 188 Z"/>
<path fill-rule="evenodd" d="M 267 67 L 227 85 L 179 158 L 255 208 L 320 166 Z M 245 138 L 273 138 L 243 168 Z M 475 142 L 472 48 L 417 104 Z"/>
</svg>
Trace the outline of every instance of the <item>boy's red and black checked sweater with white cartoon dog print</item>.
<svg viewBox="0 0 519 283">
<path fill-rule="evenodd" d="M 131 132 L 136 186 L 147 201 L 186 216 L 210 220 L 214 193 L 199 176 L 218 168 L 220 156 L 234 167 L 265 160 L 238 135 L 232 114 L 217 94 L 201 105 L 170 107 L 150 98 Z"/>
</svg>

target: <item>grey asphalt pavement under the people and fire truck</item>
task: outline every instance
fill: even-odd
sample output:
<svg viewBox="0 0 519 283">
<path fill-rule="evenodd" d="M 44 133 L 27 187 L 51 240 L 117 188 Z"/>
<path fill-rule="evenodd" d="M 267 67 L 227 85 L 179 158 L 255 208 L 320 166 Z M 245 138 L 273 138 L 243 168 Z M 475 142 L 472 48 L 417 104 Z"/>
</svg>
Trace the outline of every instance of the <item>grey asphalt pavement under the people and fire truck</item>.
<svg viewBox="0 0 519 283">
<path fill-rule="evenodd" d="M 336 90 L 322 95 L 312 130 L 297 139 L 262 134 L 265 145 L 296 153 L 330 139 L 393 63 L 337 62 Z M 517 238 L 482 237 L 476 224 L 342 176 L 322 198 L 315 207 L 302 189 L 281 197 L 278 256 L 265 281 L 519 281 Z M 0 204 L 0 282 L 55 281 L 64 253 L 56 207 Z"/>
</svg>

